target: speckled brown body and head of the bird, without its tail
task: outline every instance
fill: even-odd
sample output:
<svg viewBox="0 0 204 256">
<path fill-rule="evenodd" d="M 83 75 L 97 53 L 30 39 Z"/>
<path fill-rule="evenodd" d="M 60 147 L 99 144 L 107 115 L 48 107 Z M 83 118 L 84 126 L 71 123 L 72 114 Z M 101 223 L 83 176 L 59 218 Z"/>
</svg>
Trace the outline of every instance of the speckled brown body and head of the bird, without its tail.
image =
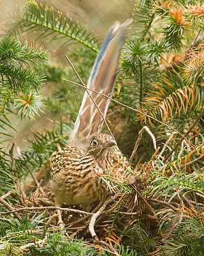
<svg viewBox="0 0 204 256">
<path fill-rule="evenodd" d="M 107 134 L 91 136 L 87 149 L 65 147 L 51 157 L 50 186 L 55 193 L 55 205 L 88 205 L 98 200 L 100 177 L 106 169 L 112 147 L 117 143 Z"/>
</svg>

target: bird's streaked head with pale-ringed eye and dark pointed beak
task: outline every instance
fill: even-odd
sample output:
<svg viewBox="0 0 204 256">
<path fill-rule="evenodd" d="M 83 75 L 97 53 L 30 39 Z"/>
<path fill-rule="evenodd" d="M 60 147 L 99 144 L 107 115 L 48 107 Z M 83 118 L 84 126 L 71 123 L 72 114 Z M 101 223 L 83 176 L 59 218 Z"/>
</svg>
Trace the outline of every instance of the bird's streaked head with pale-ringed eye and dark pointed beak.
<svg viewBox="0 0 204 256">
<path fill-rule="evenodd" d="M 103 133 L 96 133 L 91 136 L 88 151 L 94 156 L 106 156 L 108 149 L 116 145 L 117 143 L 113 140 L 112 136 Z"/>
</svg>

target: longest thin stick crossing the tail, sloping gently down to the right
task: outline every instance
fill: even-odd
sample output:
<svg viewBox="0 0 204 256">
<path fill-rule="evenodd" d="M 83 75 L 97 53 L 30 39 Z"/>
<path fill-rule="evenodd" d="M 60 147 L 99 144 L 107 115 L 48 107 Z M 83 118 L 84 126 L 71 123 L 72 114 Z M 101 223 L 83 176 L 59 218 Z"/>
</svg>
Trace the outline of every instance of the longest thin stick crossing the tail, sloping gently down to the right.
<svg viewBox="0 0 204 256">
<path fill-rule="evenodd" d="M 86 89 L 86 90 L 89 90 L 89 91 L 91 91 L 91 92 L 98 93 L 99 95 L 102 95 L 102 96 L 104 96 L 104 97 L 106 97 L 106 98 L 112 100 L 113 102 L 115 102 L 115 103 L 117 103 L 117 104 L 119 104 L 119 105 L 121 105 L 121 106 L 123 106 L 123 107 L 125 107 L 125 108 L 131 109 L 131 110 L 133 110 L 133 111 L 135 111 L 135 112 L 137 112 L 137 113 L 140 113 L 140 114 L 142 114 L 142 115 L 144 115 L 144 116 L 147 116 L 148 118 L 150 118 L 150 119 L 156 121 L 157 123 L 163 124 L 163 125 L 165 125 L 166 127 L 168 127 L 169 129 L 171 129 L 171 130 L 177 132 L 177 134 L 179 134 L 179 135 L 183 138 L 183 140 L 186 140 L 186 141 L 187 141 L 187 139 L 184 137 L 184 135 L 182 135 L 179 131 L 177 131 L 176 129 L 174 129 L 174 128 L 171 127 L 170 125 L 165 124 L 165 123 L 163 123 L 163 122 L 157 120 L 157 119 L 154 118 L 153 116 L 149 116 L 149 115 L 147 115 L 146 113 L 143 113 L 142 111 L 140 111 L 140 110 L 138 110 L 138 109 L 131 108 L 131 107 L 129 107 L 128 105 L 123 104 L 122 102 L 119 102 L 119 101 L 117 101 L 117 100 L 115 100 L 115 99 L 112 99 L 111 97 L 109 97 L 109 96 L 107 96 L 107 95 L 105 95 L 105 94 L 103 94 L 103 93 L 96 92 L 95 90 L 92 90 L 92 89 L 90 89 L 90 88 L 87 88 L 86 86 L 84 86 L 84 85 L 82 85 L 82 84 L 75 83 L 75 82 L 70 81 L 70 80 L 68 80 L 68 79 L 64 79 L 64 81 L 66 81 L 66 82 L 68 82 L 68 83 L 71 83 L 71 84 L 75 84 L 75 85 L 77 85 L 77 86 L 80 86 L 80 87 L 82 87 L 82 88 L 84 88 L 84 89 Z M 187 141 L 187 143 L 189 143 L 189 141 Z"/>
</svg>

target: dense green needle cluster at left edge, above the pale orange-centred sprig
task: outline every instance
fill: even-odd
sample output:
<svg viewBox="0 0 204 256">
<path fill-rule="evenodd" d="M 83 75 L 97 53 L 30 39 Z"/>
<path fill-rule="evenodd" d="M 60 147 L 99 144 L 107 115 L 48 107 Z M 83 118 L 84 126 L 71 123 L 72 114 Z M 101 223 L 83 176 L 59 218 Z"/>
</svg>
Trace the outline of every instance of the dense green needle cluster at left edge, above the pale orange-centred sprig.
<svg viewBox="0 0 204 256">
<path fill-rule="evenodd" d="M 37 76 L 36 66 L 47 62 L 47 52 L 41 47 L 29 47 L 27 42 L 21 46 L 12 37 L 5 36 L 0 40 L 0 72 L 1 90 L 21 90 L 29 92 L 31 88 L 38 90 L 42 76 Z"/>
</svg>

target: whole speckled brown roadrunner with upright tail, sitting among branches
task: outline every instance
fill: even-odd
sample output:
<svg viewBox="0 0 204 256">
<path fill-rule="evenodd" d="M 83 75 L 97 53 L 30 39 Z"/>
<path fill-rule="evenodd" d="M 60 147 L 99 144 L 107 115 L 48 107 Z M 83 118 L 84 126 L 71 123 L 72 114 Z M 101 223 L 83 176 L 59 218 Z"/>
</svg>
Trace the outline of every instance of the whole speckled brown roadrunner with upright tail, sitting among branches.
<svg viewBox="0 0 204 256">
<path fill-rule="evenodd" d="M 108 30 L 99 52 L 87 88 L 112 97 L 120 50 L 132 20 L 115 22 Z M 90 97 L 92 96 L 92 99 Z M 94 102 L 92 101 L 94 100 Z M 66 147 L 54 152 L 50 161 L 50 188 L 54 191 L 55 206 L 81 205 L 87 209 L 99 198 L 103 173 L 124 177 L 128 160 L 115 139 L 101 133 L 110 99 L 96 93 L 84 93 L 73 132 Z M 99 113 L 98 108 L 101 113 Z M 103 118 L 101 116 L 103 115 Z M 57 210 L 59 227 L 63 228 L 61 212 Z"/>
</svg>

